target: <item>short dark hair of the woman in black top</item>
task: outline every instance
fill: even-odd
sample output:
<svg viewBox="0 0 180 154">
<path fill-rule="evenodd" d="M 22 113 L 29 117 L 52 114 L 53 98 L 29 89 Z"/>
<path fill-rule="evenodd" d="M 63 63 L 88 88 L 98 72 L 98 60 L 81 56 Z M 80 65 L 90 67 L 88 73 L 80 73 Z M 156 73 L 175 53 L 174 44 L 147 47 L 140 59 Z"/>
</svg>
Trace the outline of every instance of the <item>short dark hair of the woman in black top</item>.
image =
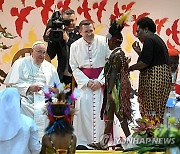
<svg viewBox="0 0 180 154">
<path fill-rule="evenodd" d="M 154 21 L 149 17 L 142 17 L 137 21 L 137 25 L 139 25 L 139 27 L 142 29 L 148 28 L 149 31 L 153 33 L 156 32 L 156 25 Z"/>
</svg>

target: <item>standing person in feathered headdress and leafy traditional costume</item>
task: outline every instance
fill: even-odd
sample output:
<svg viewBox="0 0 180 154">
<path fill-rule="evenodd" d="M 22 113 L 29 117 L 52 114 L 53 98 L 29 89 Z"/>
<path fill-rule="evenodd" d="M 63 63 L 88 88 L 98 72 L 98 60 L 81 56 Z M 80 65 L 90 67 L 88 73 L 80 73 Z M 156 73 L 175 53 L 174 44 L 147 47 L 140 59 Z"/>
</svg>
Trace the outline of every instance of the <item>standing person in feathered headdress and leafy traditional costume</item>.
<svg viewBox="0 0 180 154">
<path fill-rule="evenodd" d="M 102 140 L 99 143 L 90 144 L 90 146 L 96 149 L 107 148 L 113 127 L 114 113 L 121 122 L 125 136 L 128 137 L 130 135 L 128 120 L 131 120 L 131 87 L 128 73 L 128 59 L 121 49 L 121 43 L 123 41 L 121 31 L 125 26 L 128 14 L 129 12 L 122 15 L 120 19 L 111 21 L 109 28 L 108 45 L 113 52 L 104 68 L 106 88 L 101 110 L 101 118 L 103 118 L 104 111 L 107 110 L 107 119 Z"/>
</svg>

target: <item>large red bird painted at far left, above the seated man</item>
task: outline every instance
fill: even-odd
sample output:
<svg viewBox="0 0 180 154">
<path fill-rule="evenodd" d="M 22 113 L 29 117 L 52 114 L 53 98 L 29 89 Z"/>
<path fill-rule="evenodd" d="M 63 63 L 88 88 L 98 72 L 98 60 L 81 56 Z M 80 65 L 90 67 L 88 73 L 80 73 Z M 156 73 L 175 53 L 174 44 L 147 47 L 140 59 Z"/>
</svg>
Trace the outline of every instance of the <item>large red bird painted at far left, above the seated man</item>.
<svg viewBox="0 0 180 154">
<path fill-rule="evenodd" d="M 30 14 L 31 10 L 33 9 L 34 7 L 28 6 L 26 8 L 21 9 L 19 12 L 18 8 L 14 7 L 10 11 L 12 16 L 17 16 L 17 19 L 15 21 L 15 26 L 16 26 L 16 32 L 20 37 L 22 37 L 21 31 L 23 29 L 23 23 L 24 22 L 28 23 L 26 17 Z"/>
</svg>

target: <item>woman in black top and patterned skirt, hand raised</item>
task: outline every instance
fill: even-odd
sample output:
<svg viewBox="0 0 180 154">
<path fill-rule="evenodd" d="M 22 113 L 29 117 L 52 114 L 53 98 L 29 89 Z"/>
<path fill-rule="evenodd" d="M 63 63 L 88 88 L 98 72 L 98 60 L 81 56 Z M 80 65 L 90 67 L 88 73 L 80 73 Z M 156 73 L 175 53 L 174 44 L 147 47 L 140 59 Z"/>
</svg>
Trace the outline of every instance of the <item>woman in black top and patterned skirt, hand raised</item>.
<svg viewBox="0 0 180 154">
<path fill-rule="evenodd" d="M 136 64 L 129 71 L 139 70 L 138 101 L 143 118 L 163 122 L 165 105 L 171 90 L 171 70 L 168 64 L 168 50 L 164 41 L 155 34 L 156 25 L 149 17 L 137 21 L 137 38 L 133 49 L 139 55 Z"/>
</svg>

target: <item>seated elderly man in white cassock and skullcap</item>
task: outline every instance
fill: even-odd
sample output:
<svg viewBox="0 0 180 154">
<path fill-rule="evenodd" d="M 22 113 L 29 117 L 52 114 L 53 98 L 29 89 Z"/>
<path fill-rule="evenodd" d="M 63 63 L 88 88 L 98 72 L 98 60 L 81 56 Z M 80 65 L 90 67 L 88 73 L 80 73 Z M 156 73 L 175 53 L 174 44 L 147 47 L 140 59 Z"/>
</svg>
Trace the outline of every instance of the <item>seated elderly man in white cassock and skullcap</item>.
<svg viewBox="0 0 180 154">
<path fill-rule="evenodd" d="M 7 86 L 19 90 L 21 112 L 35 120 L 40 140 L 49 123 L 44 113 L 45 97 L 43 87 L 48 86 L 51 88 L 56 83 L 58 89 L 51 89 L 55 93 L 63 90 L 56 68 L 45 60 L 45 55 L 46 45 L 44 42 L 35 42 L 32 46 L 31 56 L 16 60 L 4 81 Z"/>
</svg>

